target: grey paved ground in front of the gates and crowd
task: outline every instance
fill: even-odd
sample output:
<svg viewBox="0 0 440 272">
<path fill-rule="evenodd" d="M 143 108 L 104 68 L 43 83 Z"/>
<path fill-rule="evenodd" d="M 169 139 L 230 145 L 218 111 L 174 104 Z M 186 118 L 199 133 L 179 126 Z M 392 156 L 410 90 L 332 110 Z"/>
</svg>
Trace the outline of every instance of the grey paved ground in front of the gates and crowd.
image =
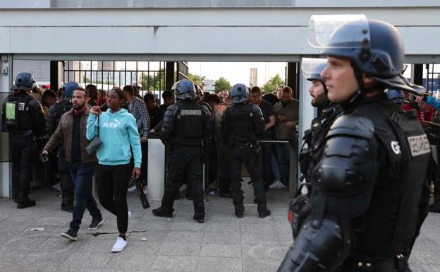
<svg viewBox="0 0 440 272">
<path fill-rule="evenodd" d="M 60 211 L 61 199 L 51 189 L 32 191 L 37 206 L 18 210 L 9 199 L 0 199 L 0 271 L 276 271 L 292 243 L 287 222 L 287 191 L 268 194 L 272 215 L 258 218 L 256 206 L 245 217 L 233 215 L 231 199 L 208 196 L 204 224 L 192 219 L 193 203 L 176 201 L 175 217 L 156 218 L 152 208 L 142 209 L 137 195 L 128 194 L 133 216 L 129 220 L 128 246 L 118 254 L 111 247 L 116 234 L 94 237 L 85 214 L 78 241 L 68 242 L 71 213 Z M 116 218 L 102 209 L 100 232 L 116 232 Z M 35 227 L 44 230 L 31 231 Z M 440 214 L 430 213 L 415 244 L 410 264 L 415 272 L 440 271 Z M 144 242 L 144 240 L 146 240 Z"/>
</svg>

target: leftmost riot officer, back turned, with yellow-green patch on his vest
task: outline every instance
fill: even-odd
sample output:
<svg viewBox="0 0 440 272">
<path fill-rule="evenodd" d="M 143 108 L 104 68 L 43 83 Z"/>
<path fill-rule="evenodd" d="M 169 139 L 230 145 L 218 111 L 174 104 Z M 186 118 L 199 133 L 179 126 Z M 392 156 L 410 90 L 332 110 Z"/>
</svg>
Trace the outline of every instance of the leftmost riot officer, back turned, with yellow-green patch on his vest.
<svg viewBox="0 0 440 272">
<path fill-rule="evenodd" d="M 29 95 L 35 80 L 30 73 L 19 73 L 13 85 L 13 94 L 2 105 L 1 119 L 9 131 L 12 154 L 13 199 L 17 208 L 35 206 L 28 197 L 32 175 L 33 138 L 42 137 L 44 114 L 42 105 Z"/>
</svg>

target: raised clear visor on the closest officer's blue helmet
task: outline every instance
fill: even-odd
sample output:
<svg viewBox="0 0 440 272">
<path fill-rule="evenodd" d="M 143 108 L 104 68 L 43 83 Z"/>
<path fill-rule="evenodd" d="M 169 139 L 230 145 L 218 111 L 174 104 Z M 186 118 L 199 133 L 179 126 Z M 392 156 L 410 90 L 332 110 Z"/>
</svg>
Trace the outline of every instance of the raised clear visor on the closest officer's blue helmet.
<svg viewBox="0 0 440 272">
<path fill-rule="evenodd" d="M 312 47 L 369 48 L 369 25 L 363 14 L 313 15 L 308 42 Z"/>
</svg>

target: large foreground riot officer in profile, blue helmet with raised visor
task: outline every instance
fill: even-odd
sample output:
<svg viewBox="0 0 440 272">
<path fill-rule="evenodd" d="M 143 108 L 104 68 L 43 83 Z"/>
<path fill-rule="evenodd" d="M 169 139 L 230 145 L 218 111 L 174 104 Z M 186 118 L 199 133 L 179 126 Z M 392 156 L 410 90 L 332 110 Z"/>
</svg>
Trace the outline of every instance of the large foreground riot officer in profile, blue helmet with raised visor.
<svg viewBox="0 0 440 272">
<path fill-rule="evenodd" d="M 427 213 L 430 148 L 415 112 L 399 110 L 384 90 L 421 95 L 422 88 L 403 78 L 403 40 L 393 25 L 335 19 L 312 16 L 310 42 L 324 48 L 321 76 L 344 114 L 311 172 L 310 199 L 291 203 L 295 244 L 279 271 L 410 271 Z M 323 29 L 331 26 L 336 30 Z M 331 35 L 318 36 L 325 33 Z"/>
</svg>

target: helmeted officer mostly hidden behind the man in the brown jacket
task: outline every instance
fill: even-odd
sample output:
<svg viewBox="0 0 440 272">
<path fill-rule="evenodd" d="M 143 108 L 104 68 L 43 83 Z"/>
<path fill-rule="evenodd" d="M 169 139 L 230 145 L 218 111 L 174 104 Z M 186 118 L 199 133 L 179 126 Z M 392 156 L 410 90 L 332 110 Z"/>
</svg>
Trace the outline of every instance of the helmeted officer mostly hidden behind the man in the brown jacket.
<svg viewBox="0 0 440 272">
<path fill-rule="evenodd" d="M 52 105 L 49 108 L 49 114 L 47 114 L 46 129 L 49 136 L 54 134 L 61 115 L 72 109 L 73 91 L 79 87 L 80 85 L 73 81 L 64 83 L 61 101 Z M 64 147 L 61 145 L 58 150 L 58 168 L 62 196 L 61 211 L 73 212 L 75 186 L 68 168 L 68 162 L 64 158 Z"/>
</svg>

